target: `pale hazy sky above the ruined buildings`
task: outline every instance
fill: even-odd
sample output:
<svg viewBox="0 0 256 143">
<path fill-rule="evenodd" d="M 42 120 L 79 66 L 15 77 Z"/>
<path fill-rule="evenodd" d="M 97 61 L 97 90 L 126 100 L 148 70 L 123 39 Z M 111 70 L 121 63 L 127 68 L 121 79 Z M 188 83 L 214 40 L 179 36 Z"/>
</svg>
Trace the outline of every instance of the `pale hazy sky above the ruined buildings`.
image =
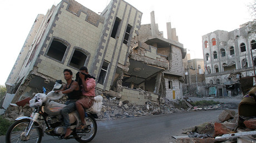
<svg viewBox="0 0 256 143">
<path fill-rule="evenodd" d="M 4 85 L 29 30 L 38 14 L 46 14 L 52 5 L 61 0 L 1 0 L 0 1 L 0 85 Z M 77 0 L 98 13 L 110 0 Z M 215 30 L 232 31 L 239 25 L 252 21 L 249 5 L 254 0 L 126 0 L 142 12 L 141 24 L 150 23 L 150 12 L 155 11 L 159 30 L 166 38 L 166 22 L 176 28 L 179 42 L 191 59 L 203 59 L 202 36 Z"/>
</svg>

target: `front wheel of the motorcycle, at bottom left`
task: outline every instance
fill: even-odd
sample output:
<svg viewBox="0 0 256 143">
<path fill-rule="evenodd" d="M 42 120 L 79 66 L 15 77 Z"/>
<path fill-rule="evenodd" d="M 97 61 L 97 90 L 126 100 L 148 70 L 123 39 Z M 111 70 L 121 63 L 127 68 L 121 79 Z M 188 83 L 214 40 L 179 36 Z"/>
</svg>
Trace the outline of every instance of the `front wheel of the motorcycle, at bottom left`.
<svg viewBox="0 0 256 143">
<path fill-rule="evenodd" d="M 22 119 L 14 122 L 6 133 L 6 142 L 41 142 L 42 140 L 42 129 L 35 122 L 29 132 L 29 135 L 26 136 L 29 119 Z"/>
</svg>

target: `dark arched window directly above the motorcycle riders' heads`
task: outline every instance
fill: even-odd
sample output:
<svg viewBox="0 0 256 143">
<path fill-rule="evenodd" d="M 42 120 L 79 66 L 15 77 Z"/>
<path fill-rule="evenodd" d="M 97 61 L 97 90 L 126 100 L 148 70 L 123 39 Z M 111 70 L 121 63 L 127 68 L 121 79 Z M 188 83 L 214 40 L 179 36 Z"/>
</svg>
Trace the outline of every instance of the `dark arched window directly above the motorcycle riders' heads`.
<svg viewBox="0 0 256 143">
<path fill-rule="evenodd" d="M 83 65 L 85 65 L 86 58 L 87 58 L 86 54 L 82 53 L 79 50 L 75 50 L 75 52 L 72 55 L 70 65 L 72 67 L 79 69 L 80 67 L 83 67 Z"/>
</svg>

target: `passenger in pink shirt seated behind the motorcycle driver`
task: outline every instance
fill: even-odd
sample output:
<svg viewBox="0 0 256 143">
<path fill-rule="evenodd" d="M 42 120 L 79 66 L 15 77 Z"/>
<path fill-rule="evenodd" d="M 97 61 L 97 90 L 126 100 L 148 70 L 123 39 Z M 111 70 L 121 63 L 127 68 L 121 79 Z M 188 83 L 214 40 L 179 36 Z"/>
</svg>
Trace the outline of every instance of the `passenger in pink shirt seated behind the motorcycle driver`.
<svg viewBox="0 0 256 143">
<path fill-rule="evenodd" d="M 78 73 L 82 91 L 82 98 L 76 101 L 76 109 L 81 119 L 81 125 L 77 129 L 85 128 L 85 109 L 90 108 L 95 99 L 95 78 L 88 74 L 88 69 L 86 67 L 80 68 L 80 73 Z"/>
</svg>

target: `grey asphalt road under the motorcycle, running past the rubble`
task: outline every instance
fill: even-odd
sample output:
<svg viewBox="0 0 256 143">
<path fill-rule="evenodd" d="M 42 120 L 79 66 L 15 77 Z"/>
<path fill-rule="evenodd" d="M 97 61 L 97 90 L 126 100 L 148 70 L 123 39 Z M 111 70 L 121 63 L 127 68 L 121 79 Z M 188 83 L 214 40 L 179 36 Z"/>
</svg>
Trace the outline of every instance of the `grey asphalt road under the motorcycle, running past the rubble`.
<svg viewBox="0 0 256 143">
<path fill-rule="evenodd" d="M 218 121 L 222 110 L 191 111 L 164 115 L 141 116 L 136 118 L 97 121 L 98 131 L 91 142 L 171 142 L 171 136 L 184 135 L 183 129 L 208 121 Z M 0 137 L 0 142 L 4 141 Z M 75 139 L 58 140 L 43 136 L 42 142 L 76 142 Z"/>
</svg>

